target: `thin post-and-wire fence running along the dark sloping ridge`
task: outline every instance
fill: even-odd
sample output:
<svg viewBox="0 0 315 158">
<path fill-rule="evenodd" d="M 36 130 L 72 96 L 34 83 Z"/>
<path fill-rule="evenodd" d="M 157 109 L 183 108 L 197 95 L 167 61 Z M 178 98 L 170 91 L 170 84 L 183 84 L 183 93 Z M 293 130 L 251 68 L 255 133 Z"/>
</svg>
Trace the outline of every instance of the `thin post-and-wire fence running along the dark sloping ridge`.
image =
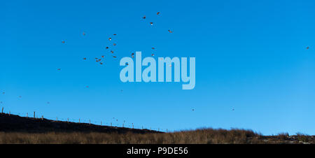
<svg viewBox="0 0 315 158">
<path fill-rule="evenodd" d="M 8 115 L 18 115 L 20 117 L 31 117 L 38 120 L 45 119 L 45 120 L 51 120 L 51 121 L 56 121 L 56 122 L 74 122 L 74 123 L 94 124 L 97 126 L 123 127 L 123 128 L 130 128 L 130 129 L 147 129 L 147 130 L 153 130 L 153 131 L 169 132 L 168 129 L 142 126 L 142 125 L 126 122 L 125 120 L 123 122 L 119 122 L 118 119 L 116 119 L 115 117 L 113 117 L 111 121 L 90 120 L 86 118 L 72 119 L 72 118 L 64 118 L 64 117 L 44 116 L 42 113 L 37 113 L 36 111 L 32 113 L 20 113 L 20 112 L 6 110 L 6 108 L 2 107 L 1 114 L 4 114 L 4 113 Z"/>
</svg>

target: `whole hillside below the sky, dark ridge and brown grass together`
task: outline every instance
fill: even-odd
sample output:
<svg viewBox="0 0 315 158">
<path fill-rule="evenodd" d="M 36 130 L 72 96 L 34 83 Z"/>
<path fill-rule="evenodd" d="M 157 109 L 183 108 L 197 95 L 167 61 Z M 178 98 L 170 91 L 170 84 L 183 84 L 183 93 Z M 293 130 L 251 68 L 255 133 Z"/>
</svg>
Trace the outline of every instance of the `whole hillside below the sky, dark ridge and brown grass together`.
<svg viewBox="0 0 315 158">
<path fill-rule="evenodd" d="M 244 129 L 197 129 L 161 133 L 75 122 L 56 122 L 0 114 L 0 143 L 315 143 L 315 136 L 279 134 L 262 136 Z"/>
</svg>

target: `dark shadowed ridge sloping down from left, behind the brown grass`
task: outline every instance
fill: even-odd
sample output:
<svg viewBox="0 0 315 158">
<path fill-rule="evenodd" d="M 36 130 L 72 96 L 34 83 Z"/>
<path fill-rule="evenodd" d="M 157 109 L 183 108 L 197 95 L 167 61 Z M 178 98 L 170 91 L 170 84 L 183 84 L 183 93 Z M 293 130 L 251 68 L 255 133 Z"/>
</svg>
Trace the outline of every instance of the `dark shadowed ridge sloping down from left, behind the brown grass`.
<svg viewBox="0 0 315 158">
<path fill-rule="evenodd" d="M 109 127 L 96 124 L 63 122 L 33 117 L 20 117 L 18 115 L 9 115 L 0 113 L 0 131 L 5 132 L 28 132 L 28 133 L 45 133 L 50 131 L 56 132 L 102 132 L 125 134 L 128 132 L 135 134 L 162 133 L 148 129 L 130 129 L 124 127 Z"/>
</svg>

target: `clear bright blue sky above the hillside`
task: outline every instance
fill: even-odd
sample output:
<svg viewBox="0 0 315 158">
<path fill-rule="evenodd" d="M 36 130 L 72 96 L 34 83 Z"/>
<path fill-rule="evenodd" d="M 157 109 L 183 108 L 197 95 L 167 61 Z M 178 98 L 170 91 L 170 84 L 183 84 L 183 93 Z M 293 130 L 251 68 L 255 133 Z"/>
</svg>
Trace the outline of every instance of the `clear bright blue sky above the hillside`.
<svg viewBox="0 0 315 158">
<path fill-rule="evenodd" d="M 314 8 L 314 1 L 3 1 L 0 106 L 169 131 L 315 134 Z M 195 89 L 121 82 L 119 60 L 135 51 L 195 57 Z M 100 65 L 94 58 L 102 55 Z"/>
</svg>

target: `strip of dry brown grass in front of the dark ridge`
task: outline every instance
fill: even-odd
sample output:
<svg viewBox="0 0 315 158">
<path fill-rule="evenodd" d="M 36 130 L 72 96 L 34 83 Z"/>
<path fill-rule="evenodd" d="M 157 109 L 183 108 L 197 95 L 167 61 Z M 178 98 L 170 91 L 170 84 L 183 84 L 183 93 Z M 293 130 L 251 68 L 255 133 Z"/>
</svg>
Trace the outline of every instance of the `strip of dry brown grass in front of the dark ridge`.
<svg viewBox="0 0 315 158">
<path fill-rule="evenodd" d="M 296 138 L 295 138 L 296 137 Z M 288 136 L 261 136 L 250 130 L 241 129 L 197 129 L 164 134 L 105 134 L 83 132 L 49 132 L 28 134 L 0 132 L 0 143 L 27 144 L 243 144 L 243 143 L 314 143 L 313 136 L 298 134 Z"/>
</svg>

